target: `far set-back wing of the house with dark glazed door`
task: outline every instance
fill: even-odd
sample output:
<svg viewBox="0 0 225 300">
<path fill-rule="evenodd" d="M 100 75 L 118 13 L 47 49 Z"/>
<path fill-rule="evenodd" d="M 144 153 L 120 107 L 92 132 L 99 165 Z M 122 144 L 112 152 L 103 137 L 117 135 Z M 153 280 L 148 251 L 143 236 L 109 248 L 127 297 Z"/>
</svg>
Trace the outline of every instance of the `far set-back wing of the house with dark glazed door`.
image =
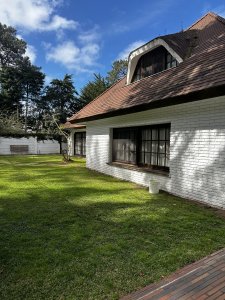
<svg viewBox="0 0 225 300">
<path fill-rule="evenodd" d="M 70 155 L 86 156 L 86 126 L 76 125 L 66 122 L 63 125 L 64 129 L 70 131 L 70 139 L 68 148 L 70 149 Z"/>
</svg>

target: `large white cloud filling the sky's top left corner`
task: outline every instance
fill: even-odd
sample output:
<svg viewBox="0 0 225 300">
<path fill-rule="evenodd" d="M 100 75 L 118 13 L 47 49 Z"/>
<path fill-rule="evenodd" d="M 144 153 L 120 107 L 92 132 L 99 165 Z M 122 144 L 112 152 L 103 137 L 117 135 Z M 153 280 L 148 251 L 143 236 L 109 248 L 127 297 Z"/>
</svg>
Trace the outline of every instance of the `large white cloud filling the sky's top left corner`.
<svg viewBox="0 0 225 300">
<path fill-rule="evenodd" d="M 0 0 L 1 23 L 27 31 L 75 29 L 78 22 L 55 14 L 62 0 Z"/>
</svg>

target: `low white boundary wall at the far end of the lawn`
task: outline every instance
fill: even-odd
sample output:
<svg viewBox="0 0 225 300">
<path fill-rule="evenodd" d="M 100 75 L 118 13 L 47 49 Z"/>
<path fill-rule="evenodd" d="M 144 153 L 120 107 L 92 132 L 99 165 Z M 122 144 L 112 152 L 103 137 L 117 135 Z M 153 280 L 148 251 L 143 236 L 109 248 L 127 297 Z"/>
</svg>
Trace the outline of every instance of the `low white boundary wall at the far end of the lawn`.
<svg viewBox="0 0 225 300">
<path fill-rule="evenodd" d="M 62 148 L 65 148 L 63 143 Z M 0 155 L 11 154 L 59 154 L 60 144 L 56 140 L 37 140 L 36 137 L 0 137 Z"/>
</svg>

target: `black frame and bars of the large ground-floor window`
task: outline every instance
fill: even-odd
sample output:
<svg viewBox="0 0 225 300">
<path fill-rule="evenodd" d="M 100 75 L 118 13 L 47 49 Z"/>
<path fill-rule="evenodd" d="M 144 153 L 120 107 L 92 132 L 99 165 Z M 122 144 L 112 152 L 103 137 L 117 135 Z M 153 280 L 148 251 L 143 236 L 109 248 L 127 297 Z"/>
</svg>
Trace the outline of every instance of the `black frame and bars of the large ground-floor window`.
<svg viewBox="0 0 225 300">
<path fill-rule="evenodd" d="M 156 129 L 157 132 L 157 139 L 153 139 L 152 138 L 152 130 Z M 165 139 L 162 139 L 160 137 L 160 129 L 165 129 Z M 150 140 L 143 140 L 142 139 L 142 135 L 143 132 L 146 130 L 150 130 L 151 131 L 151 139 Z M 134 135 L 135 135 L 135 159 L 133 162 L 131 161 L 126 161 L 126 160 L 121 160 L 121 159 L 117 159 L 117 154 L 116 152 L 118 151 L 118 149 L 115 149 L 116 146 L 116 138 L 118 139 L 118 134 L 119 132 L 125 132 L 125 131 L 133 131 Z M 169 158 L 169 149 L 170 149 L 170 131 L 171 131 L 171 124 L 170 123 L 164 123 L 164 124 L 155 124 L 155 125 L 146 125 L 146 126 L 135 126 L 135 127 L 120 127 L 120 128 L 113 128 L 113 136 L 112 136 L 112 162 L 115 163 L 121 163 L 121 164 L 128 164 L 128 165 L 133 165 L 136 167 L 140 167 L 140 168 L 145 168 L 148 170 L 162 170 L 162 171 L 166 171 L 169 172 L 169 166 L 166 166 L 166 162 L 170 162 L 170 158 Z M 129 137 L 128 137 L 129 140 Z M 157 155 L 157 164 L 147 164 L 147 163 L 143 163 L 142 161 L 142 152 L 143 152 L 143 145 L 144 143 L 148 141 L 151 143 L 151 161 L 152 161 L 152 154 L 156 154 Z M 152 151 L 152 144 L 153 141 L 157 142 L 155 144 L 157 144 L 157 151 L 153 152 Z M 164 145 L 164 152 L 160 152 L 160 144 L 165 143 Z M 118 143 L 117 143 L 118 145 Z M 145 149 L 145 146 L 144 146 Z M 149 152 L 149 153 L 150 153 Z M 145 153 L 147 153 L 147 151 L 144 151 L 144 157 L 145 157 Z M 160 156 L 164 155 L 164 166 L 160 165 Z"/>
</svg>

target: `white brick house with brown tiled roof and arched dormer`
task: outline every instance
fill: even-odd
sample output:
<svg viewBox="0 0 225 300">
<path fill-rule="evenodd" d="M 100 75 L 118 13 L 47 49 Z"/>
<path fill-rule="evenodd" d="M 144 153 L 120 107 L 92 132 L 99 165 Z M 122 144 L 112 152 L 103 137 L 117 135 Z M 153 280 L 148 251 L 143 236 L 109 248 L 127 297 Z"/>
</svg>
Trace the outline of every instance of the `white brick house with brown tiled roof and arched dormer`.
<svg viewBox="0 0 225 300">
<path fill-rule="evenodd" d="M 126 78 L 69 122 L 86 126 L 87 168 L 225 208 L 225 19 L 135 49 Z"/>
</svg>

